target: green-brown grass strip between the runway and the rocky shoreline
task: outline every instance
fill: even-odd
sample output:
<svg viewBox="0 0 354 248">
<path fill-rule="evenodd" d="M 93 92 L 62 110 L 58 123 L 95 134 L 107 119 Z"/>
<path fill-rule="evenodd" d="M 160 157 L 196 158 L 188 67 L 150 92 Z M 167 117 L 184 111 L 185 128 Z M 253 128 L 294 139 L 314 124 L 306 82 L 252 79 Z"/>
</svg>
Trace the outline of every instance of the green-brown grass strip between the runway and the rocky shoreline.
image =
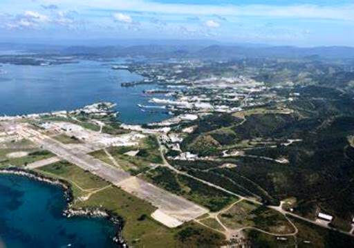
<svg viewBox="0 0 354 248">
<path fill-rule="evenodd" d="M 67 180 L 73 188 L 73 207 L 98 207 L 121 216 L 124 220 L 122 235 L 130 246 L 219 247 L 225 239 L 220 233 L 194 223 L 176 229 L 160 225 L 150 217 L 156 210 L 151 204 L 68 162 L 50 164 L 37 171 Z M 90 196 L 82 200 L 85 195 Z"/>
</svg>

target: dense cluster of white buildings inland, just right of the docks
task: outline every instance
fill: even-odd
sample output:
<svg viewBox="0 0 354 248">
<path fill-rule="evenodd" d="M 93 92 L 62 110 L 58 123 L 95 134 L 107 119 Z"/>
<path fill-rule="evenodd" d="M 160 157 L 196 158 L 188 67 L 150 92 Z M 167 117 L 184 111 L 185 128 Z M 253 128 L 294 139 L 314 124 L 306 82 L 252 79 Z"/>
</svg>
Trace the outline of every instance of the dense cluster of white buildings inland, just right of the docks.
<svg viewBox="0 0 354 248">
<path fill-rule="evenodd" d="M 245 82 L 246 79 L 241 78 L 241 82 Z M 250 106 L 262 106 L 269 102 L 285 100 L 273 93 L 270 88 L 252 79 L 249 79 L 247 84 L 240 84 L 239 78 L 212 77 L 206 82 L 166 94 L 165 97 L 152 97 L 149 102 L 163 106 L 169 113 L 176 114 L 234 113 Z"/>
</svg>

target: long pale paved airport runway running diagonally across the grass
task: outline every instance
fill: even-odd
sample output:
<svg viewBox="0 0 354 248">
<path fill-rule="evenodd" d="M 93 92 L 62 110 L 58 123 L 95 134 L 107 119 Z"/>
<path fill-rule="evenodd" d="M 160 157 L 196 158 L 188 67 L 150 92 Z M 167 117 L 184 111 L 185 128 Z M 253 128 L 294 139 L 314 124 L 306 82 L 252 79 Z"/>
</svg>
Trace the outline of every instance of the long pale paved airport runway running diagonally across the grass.
<svg viewBox="0 0 354 248">
<path fill-rule="evenodd" d="M 22 125 L 18 129 L 18 133 L 26 139 L 35 142 L 43 149 L 57 155 L 55 158 L 76 164 L 80 166 L 80 168 L 90 171 L 100 176 L 100 178 L 115 184 L 122 190 L 136 195 L 140 199 L 147 200 L 147 202 L 151 202 L 160 213 L 153 214 L 152 217 L 158 216 L 156 220 L 162 222 L 162 224 L 167 227 L 176 227 L 183 222 L 193 220 L 208 212 L 207 209 L 194 202 L 170 193 L 169 191 L 165 191 L 164 189 L 160 189 L 149 182 L 131 176 L 126 171 L 122 171 L 122 169 L 118 169 L 111 164 L 106 164 L 101 160 L 93 158 L 91 155 L 83 153 L 82 151 L 85 151 L 85 149 L 72 149 L 70 145 L 53 140 L 26 125 Z M 53 161 L 56 160 L 54 158 L 52 159 Z M 41 164 L 46 165 L 47 162 L 48 160 L 37 162 L 37 164 L 32 164 L 31 166 L 38 168 Z M 119 204 L 119 202 L 117 203 Z M 162 218 L 164 215 L 169 217 Z"/>
</svg>

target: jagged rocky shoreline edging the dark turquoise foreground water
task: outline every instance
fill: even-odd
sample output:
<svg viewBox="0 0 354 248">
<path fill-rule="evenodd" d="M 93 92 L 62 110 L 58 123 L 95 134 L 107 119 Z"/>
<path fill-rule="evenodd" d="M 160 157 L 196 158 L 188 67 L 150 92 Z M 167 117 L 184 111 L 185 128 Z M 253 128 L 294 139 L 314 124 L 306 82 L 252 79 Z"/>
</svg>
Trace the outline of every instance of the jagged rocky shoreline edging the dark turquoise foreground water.
<svg viewBox="0 0 354 248">
<path fill-rule="evenodd" d="M 46 182 L 48 184 L 56 185 L 62 187 L 64 190 L 64 198 L 67 202 L 67 208 L 63 211 L 63 216 L 66 218 L 71 218 L 73 216 L 86 216 L 89 218 L 106 218 L 107 220 L 113 222 L 115 228 L 117 229 L 115 236 L 113 237 L 113 242 L 117 244 L 118 247 L 128 247 L 127 242 L 125 242 L 124 238 L 122 238 L 122 227 L 123 227 L 123 220 L 120 216 L 111 213 L 106 209 L 97 209 L 97 208 L 87 208 L 87 209 L 73 209 L 72 202 L 73 202 L 73 192 L 71 190 L 70 184 L 64 180 L 48 178 L 40 173 L 35 171 L 28 171 L 25 169 L 19 169 L 17 167 L 13 168 L 6 168 L 0 169 L 0 174 L 12 174 L 12 175 L 20 175 L 32 180 L 37 180 L 39 182 Z"/>
</svg>

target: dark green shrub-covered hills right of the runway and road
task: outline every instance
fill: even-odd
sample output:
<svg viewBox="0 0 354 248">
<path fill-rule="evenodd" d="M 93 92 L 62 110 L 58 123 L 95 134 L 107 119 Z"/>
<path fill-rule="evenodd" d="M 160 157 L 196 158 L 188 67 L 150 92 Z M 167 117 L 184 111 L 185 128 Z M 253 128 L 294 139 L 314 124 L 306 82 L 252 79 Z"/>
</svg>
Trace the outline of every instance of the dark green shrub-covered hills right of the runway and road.
<svg viewBox="0 0 354 248">
<path fill-rule="evenodd" d="M 319 86 L 281 89 L 279 94 L 290 91 L 300 95 L 286 106 L 292 113 L 255 113 L 242 124 L 229 114 L 205 117 L 181 147 L 214 159 L 171 164 L 267 204 L 295 197 L 297 213 L 315 218 L 322 209 L 335 216 L 333 225 L 348 230 L 354 214 L 354 99 Z M 228 150 L 242 153 L 221 156 Z M 236 167 L 223 168 L 225 163 Z"/>
</svg>

